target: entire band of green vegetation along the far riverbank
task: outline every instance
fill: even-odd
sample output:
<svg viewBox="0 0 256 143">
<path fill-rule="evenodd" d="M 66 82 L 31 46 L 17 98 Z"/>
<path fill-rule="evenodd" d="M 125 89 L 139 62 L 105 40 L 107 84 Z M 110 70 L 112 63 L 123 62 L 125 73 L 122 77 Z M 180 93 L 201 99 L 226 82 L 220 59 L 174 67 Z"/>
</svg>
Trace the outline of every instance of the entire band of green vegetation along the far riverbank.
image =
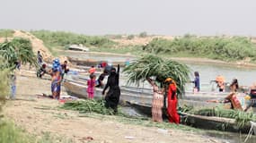
<svg viewBox="0 0 256 143">
<path fill-rule="evenodd" d="M 173 40 L 164 38 L 154 38 L 146 46 L 129 46 L 128 48 L 119 46 L 110 38 L 122 38 L 117 36 L 94 37 L 75 34 L 63 31 L 35 30 L 31 31 L 33 35 L 44 41 L 51 52 L 53 47 L 65 47 L 72 44 L 82 44 L 84 46 L 98 47 L 93 48 L 95 51 L 112 52 L 112 53 L 132 53 L 141 54 L 141 50 L 145 54 L 158 54 L 180 57 L 206 57 L 210 59 L 218 59 L 222 61 L 237 61 L 250 59 L 256 60 L 256 46 L 251 42 L 250 38 L 245 37 L 196 37 L 185 35 L 181 38 Z M 146 38 L 146 32 L 138 35 L 139 38 Z M 133 39 L 134 35 L 129 35 L 128 39 Z M 114 48 L 113 48 L 114 47 Z M 118 47 L 118 48 L 117 48 Z M 121 51 L 121 52 L 119 52 Z"/>
</svg>

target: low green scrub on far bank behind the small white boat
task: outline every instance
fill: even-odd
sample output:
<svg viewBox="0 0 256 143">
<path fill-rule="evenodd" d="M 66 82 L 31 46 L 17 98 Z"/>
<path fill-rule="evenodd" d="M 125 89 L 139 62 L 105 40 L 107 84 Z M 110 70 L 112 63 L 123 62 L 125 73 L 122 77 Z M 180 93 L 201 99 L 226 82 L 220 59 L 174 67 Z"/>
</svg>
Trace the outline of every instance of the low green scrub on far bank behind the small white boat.
<svg viewBox="0 0 256 143">
<path fill-rule="evenodd" d="M 68 46 L 82 44 L 84 46 L 110 47 L 114 44 L 109 38 L 85 36 L 64 31 L 34 30 L 31 33 L 43 40 L 47 46 Z"/>
</svg>

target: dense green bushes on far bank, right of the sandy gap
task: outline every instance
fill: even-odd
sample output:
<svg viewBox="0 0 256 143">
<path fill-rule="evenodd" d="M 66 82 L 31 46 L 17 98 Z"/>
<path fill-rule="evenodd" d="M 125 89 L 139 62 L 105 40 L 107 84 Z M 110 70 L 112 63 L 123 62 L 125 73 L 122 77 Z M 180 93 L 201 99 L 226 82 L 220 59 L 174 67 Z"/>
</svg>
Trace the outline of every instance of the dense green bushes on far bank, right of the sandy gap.
<svg viewBox="0 0 256 143">
<path fill-rule="evenodd" d="M 154 38 L 143 47 L 149 53 L 164 55 L 190 55 L 219 60 L 243 60 L 247 57 L 255 60 L 256 46 L 249 38 L 243 37 L 195 37 L 186 35 L 167 40 Z"/>
</svg>

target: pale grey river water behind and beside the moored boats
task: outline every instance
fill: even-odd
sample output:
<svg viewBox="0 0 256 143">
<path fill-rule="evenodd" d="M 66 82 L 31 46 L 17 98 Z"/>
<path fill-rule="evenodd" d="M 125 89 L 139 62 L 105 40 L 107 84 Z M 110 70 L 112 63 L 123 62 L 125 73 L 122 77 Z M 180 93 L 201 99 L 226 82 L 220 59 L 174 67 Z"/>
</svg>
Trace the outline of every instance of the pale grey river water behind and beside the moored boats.
<svg viewBox="0 0 256 143">
<path fill-rule="evenodd" d="M 78 59 L 92 59 L 97 61 L 108 61 L 111 62 L 125 62 L 127 59 L 133 60 L 134 57 L 128 57 L 126 55 L 96 55 L 82 52 L 60 52 L 60 55 L 66 55 L 75 57 Z M 200 83 L 202 90 L 209 90 L 211 88 L 210 80 L 215 80 L 217 75 L 223 75 L 226 82 L 231 82 L 234 78 L 239 81 L 240 85 L 250 86 L 256 81 L 256 69 L 255 68 L 244 68 L 234 66 L 224 66 L 221 64 L 207 64 L 207 63 L 186 63 L 190 69 L 190 79 L 193 80 L 193 72 L 199 71 Z M 187 88 L 192 88 L 192 84 L 188 84 Z M 225 134 L 212 134 L 209 136 L 216 137 L 219 139 L 227 140 L 228 143 L 243 143 L 245 135 L 239 133 L 225 133 Z M 247 143 L 256 143 L 256 136 L 252 136 L 252 139 L 248 139 Z"/>
</svg>

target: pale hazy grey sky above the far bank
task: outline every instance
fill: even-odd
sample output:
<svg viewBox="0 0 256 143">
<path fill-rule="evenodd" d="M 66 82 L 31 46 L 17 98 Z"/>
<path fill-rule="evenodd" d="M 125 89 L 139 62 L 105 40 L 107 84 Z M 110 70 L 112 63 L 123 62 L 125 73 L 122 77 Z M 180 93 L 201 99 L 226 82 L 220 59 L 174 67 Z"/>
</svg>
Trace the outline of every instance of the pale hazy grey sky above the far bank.
<svg viewBox="0 0 256 143">
<path fill-rule="evenodd" d="M 256 36 L 255 0 L 0 0 L 0 29 Z"/>
</svg>

